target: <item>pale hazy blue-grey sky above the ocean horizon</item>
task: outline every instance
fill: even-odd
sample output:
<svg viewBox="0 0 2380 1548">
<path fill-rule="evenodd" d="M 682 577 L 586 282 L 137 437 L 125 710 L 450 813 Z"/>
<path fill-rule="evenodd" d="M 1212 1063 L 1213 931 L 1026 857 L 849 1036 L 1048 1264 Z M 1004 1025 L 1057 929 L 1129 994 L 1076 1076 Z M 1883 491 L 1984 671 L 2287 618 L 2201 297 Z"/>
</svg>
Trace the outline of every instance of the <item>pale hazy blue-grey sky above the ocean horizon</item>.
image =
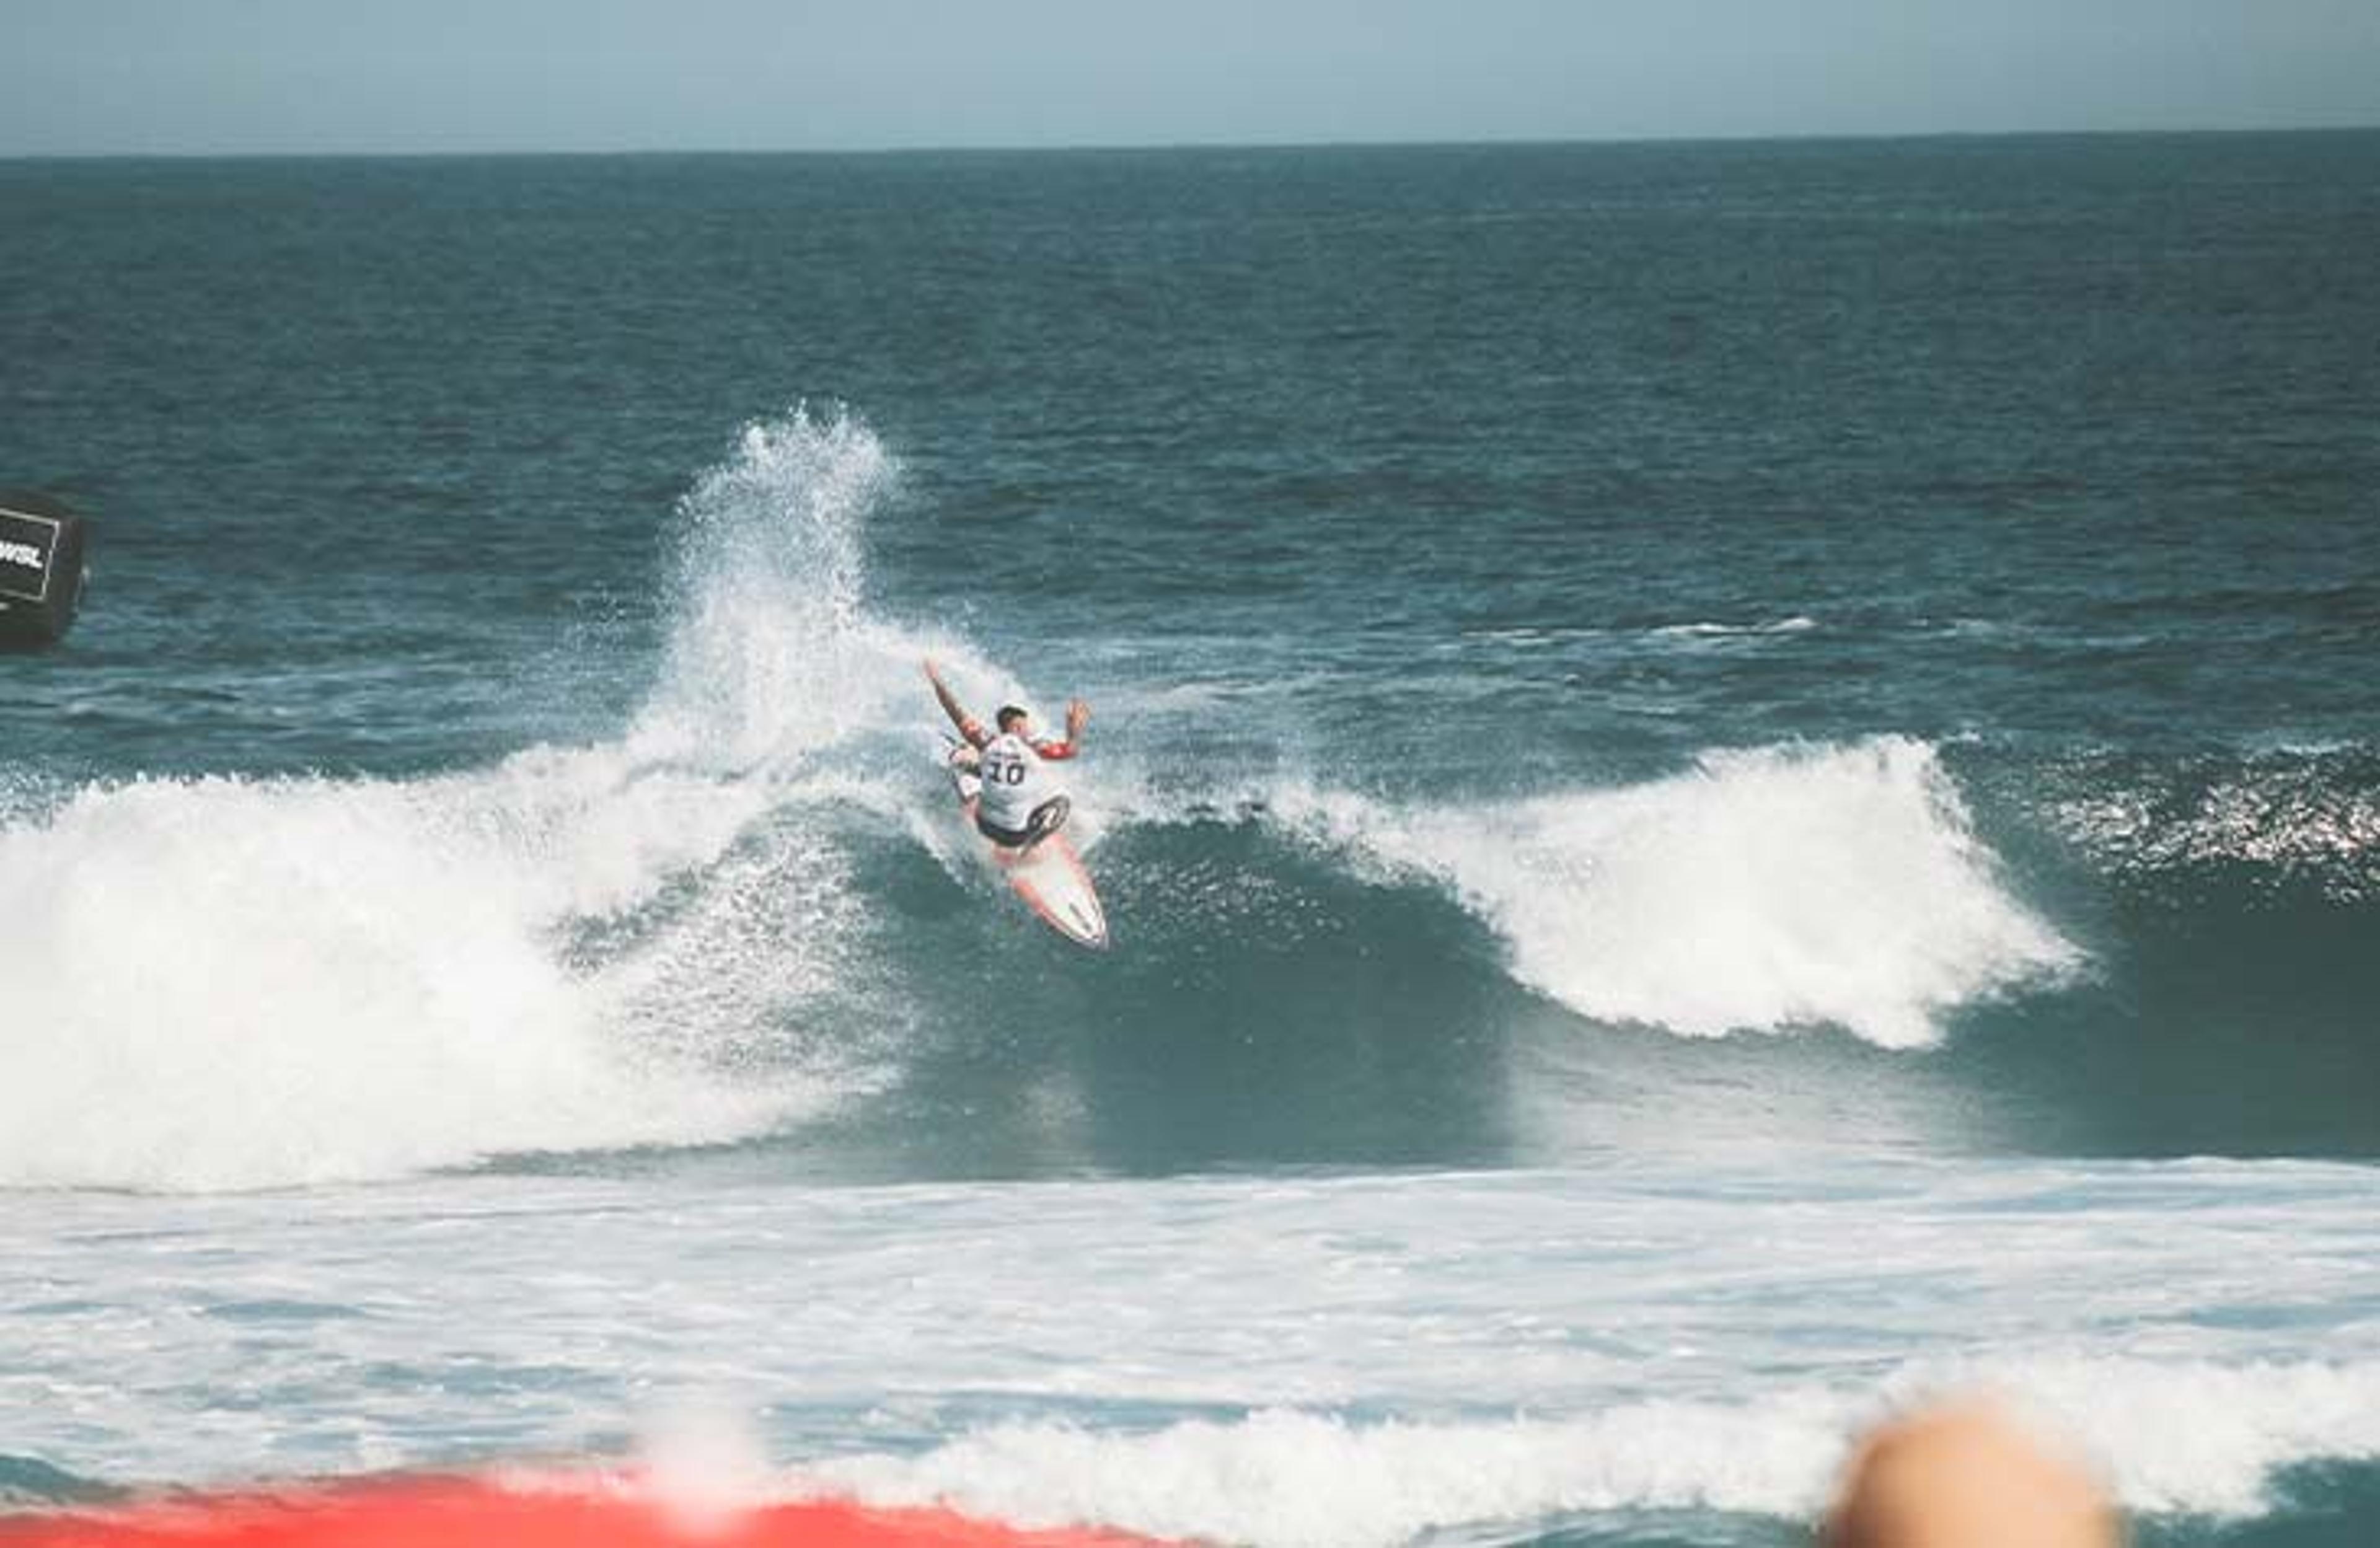
<svg viewBox="0 0 2380 1548">
<path fill-rule="evenodd" d="M 2380 124 L 2380 0 L 0 0 L 0 155 Z"/>
</svg>

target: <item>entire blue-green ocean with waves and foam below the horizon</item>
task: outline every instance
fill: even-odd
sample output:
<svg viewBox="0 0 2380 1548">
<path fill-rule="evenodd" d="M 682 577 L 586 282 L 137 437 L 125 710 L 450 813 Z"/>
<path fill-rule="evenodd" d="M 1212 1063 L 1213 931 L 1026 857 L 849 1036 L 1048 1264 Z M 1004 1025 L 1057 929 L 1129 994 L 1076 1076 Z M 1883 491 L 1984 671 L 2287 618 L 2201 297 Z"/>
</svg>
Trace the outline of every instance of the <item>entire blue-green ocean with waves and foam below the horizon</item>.
<svg viewBox="0 0 2380 1548">
<path fill-rule="evenodd" d="M 2380 1538 L 2380 133 L 0 209 L 0 1508 L 1771 1546 L 1985 1389 Z"/>
</svg>

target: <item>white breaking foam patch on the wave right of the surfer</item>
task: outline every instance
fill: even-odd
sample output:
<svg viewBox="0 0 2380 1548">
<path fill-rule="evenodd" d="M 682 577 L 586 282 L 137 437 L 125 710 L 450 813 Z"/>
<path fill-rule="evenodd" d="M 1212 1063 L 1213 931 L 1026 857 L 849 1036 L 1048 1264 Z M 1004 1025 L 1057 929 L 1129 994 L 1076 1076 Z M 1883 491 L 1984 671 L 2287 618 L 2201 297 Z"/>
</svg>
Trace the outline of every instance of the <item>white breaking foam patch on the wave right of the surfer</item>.
<svg viewBox="0 0 2380 1548">
<path fill-rule="evenodd" d="M 1530 987 L 1690 1037 L 1944 1013 L 2071 973 L 1935 751 L 1904 737 L 1709 754 L 1685 775 L 1459 811 L 1280 792 L 1290 823 L 1452 885 Z"/>
</svg>

